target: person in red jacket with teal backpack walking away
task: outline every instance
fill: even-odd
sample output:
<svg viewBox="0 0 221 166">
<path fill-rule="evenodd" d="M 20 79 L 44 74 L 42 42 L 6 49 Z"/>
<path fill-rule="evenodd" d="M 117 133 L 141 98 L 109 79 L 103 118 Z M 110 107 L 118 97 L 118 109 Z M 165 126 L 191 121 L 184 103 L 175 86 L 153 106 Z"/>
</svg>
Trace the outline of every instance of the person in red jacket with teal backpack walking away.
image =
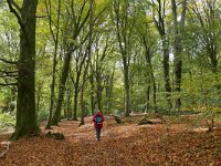
<svg viewBox="0 0 221 166">
<path fill-rule="evenodd" d="M 96 129 L 96 139 L 99 141 L 101 138 L 101 129 L 103 127 L 104 116 L 103 114 L 97 111 L 97 113 L 93 116 L 94 127 Z"/>
</svg>

